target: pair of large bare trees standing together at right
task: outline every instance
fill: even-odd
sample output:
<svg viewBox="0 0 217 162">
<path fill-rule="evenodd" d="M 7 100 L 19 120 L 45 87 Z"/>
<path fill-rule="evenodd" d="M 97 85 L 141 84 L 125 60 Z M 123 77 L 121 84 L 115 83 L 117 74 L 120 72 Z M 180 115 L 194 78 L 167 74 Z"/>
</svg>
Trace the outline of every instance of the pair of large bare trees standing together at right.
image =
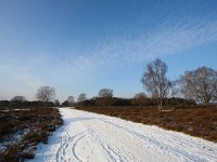
<svg viewBox="0 0 217 162">
<path fill-rule="evenodd" d="M 144 89 L 156 98 L 158 109 L 162 110 L 163 100 L 168 96 L 182 94 L 187 99 L 208 104 L 217 100 L 217 71 L 200 67 L 186 71 L 179 79 L 171 81 L 166 77 L 168 66 L 156 58 L 145 66 L 141 82 Z"/>
</svg>

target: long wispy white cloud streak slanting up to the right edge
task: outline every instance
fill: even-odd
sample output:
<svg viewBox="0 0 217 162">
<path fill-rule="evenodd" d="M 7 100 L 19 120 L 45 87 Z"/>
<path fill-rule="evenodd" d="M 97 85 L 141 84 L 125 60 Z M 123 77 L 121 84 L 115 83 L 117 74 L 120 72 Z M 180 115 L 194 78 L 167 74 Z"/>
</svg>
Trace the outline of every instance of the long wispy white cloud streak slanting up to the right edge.
<svg viewBox="0 0 217 162">
<path fill-rule="evenodd" d="M 217 41 L 217 22 L 180 22 L 162 24 L 150 32 L 140 31 L 138 37 L 115 38 L 98 44 L 94 51 L 79 55 L 71 64 L 82 72 L 143 62 L 156 56 L 176 54 L 182 50 Z"/>
</svg>

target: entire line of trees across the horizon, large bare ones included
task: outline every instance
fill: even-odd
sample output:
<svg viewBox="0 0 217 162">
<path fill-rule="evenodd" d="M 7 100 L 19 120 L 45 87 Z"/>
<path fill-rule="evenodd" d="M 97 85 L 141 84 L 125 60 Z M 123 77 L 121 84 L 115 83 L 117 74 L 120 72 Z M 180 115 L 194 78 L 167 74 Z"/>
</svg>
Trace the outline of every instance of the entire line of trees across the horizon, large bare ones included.
<svg viewBox="0 0 217 162">
<path fill-rule="evenodd" d="M 21 107 L 21 106 L 154 106 L 158 105 L 162 110 L 163 105 L 179 104 L 208 104 L 217 102 L 217 71 L 200 67 L 192 71 L 186 71 L 179 79 L 169 80 L 166 77 L 168 66 L 166 63 L 156 58 L 146 64 L 141 82 L 149 93 L 138 93 L 133 98 L 113 97 L 113 90 L 102 89 L 97 97 L 87 98 L 85 93 L 78 96 L 77 103 L 73 96 L 62 104 L 55 98 L 55 90 L 51 86 L 38 89 L 36 98 L 38 102 L 27 102 L 24 96 L 15 96 L 10 102 L 0 102 L 0 106 Z M 178 96 L 178 97 L 177 97 Z"/>
</svg>

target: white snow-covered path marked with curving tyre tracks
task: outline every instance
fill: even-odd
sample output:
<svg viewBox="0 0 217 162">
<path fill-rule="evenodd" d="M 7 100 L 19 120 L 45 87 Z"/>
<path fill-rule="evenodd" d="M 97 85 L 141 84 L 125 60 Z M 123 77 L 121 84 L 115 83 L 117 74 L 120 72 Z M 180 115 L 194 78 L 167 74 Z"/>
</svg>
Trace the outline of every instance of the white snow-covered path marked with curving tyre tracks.
<svg viewBox="0 0 217 162">
<path fill-rule="evenodd" d="M 60 109 L 64 125 L 48 145 L 40 144 L 37 162 L 217 162 L 217 144 L 122 119 Z"/>
</svg>

